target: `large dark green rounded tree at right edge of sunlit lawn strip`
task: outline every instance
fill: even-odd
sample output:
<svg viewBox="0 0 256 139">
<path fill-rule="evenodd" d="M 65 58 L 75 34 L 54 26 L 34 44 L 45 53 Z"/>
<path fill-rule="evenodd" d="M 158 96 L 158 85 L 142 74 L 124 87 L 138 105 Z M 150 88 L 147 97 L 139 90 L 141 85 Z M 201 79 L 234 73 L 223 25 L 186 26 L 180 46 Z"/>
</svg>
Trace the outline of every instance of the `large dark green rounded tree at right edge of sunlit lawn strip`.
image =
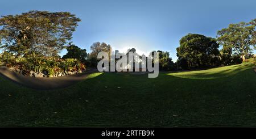
<svg viewBox="0 0 256 139">
<path fill-rule="evenodd" d="M 178 61 L 183 65 L 187 62 L 188 68 L 212 66 L 219 54 L 218 47 L 212 37 L 189 33 L 180 39 L 180 47 L 176 48 Z"/>
</svg>

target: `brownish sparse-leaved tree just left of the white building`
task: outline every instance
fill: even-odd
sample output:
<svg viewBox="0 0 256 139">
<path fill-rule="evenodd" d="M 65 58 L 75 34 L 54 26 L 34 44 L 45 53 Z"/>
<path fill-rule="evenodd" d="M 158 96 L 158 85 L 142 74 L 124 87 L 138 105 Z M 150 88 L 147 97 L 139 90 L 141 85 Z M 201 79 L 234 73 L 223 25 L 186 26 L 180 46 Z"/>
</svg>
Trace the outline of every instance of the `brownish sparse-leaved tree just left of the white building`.
<svg viewBox="0 0 256 139">
<path fill-rule="evenodd" d="M 90 46 L 90 50 L 92 50 L 92 52 L 89 54 L 89 61 L 91 66 L 97 67 L 97 56 L 100 52 L 108 52 L 110 60 L 110 53 L 112 53 L 112 48 L 109 44 L 96 42 Z"/>
</svg>

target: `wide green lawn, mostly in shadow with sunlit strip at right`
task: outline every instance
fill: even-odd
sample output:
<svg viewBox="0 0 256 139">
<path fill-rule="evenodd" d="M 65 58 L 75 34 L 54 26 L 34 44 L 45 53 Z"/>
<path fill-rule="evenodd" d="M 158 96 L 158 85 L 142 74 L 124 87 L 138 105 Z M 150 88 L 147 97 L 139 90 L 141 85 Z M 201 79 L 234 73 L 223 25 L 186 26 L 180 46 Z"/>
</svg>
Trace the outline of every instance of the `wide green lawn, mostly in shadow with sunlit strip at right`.
<svg viewBox="0 0 256 139">
<path fill-rule="evenodd" d="M 96 73 L 51 91 L 0 78 L 0 127 L 256 127 L 253 66 Z"/>
</svg>

